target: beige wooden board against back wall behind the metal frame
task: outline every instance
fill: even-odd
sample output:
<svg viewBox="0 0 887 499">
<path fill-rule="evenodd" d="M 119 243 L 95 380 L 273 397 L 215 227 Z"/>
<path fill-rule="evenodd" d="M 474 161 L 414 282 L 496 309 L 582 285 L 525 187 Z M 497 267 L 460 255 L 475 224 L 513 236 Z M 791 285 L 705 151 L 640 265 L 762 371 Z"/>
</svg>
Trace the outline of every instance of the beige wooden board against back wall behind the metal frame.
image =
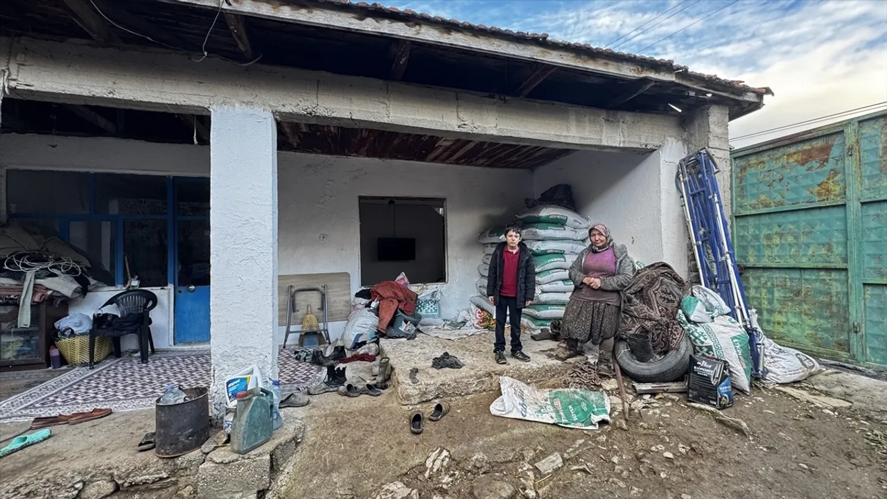
<svg viewBox="0 0 887 499">
<path fill-rule="evenodd" d="M 351 313 L 351 274 L 337 273 L 294 273 L 278 276 L 278 324 L 287 325 L 287 289 L 321 287 L 326 284 L 326 305 L 329 307 L 329 321 L 347 321 Z M 320 309 L 320 293 L 298 293 L 293 310 L 293 329 L 302 326 L 302 316 L 311 305 L 311 312 L 324 320 Z"/>
</svg>

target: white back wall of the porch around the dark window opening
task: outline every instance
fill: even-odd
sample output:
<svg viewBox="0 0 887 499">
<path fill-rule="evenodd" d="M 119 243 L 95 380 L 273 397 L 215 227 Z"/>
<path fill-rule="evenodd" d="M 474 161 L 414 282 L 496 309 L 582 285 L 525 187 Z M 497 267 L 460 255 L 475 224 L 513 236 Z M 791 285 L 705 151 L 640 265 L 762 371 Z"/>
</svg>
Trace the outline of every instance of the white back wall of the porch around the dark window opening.
<svg viewBox="0 0 887 499">
<path fill-rule="evenodd" d="M 209 148 L 3 134 L 0 167 L 208 176 Z M 529 170 L 280 153 L 278 176 L 279 273 L 348 272 L 352 293 L 360 287 L 358 197 L 445 198 L 448 282 L 441 303 L 444 316 L 466 308 L 467 298 L 475 294 L 476 267 L 483 255 L 477 234 L 511 220 L 523 199 L 533 195 Z M 5 192 L 5 186 L 0 185 L 0 190 Z M 395 277 L 396 273 L 390 276 Z M 87 302 L 82 309 L 91 313 L 92 306 Z M 166 333 L 154 333 L 155 346 L 167 348 L 171 319 L 161 325 L 162 313 L 157 315 L 152 314 L 153 329 L 165 328 Z M 343 327 L 342 322 L 332 324 L 332 336 L 339 336 Z M 283 328 L 277 338 L 283 342 Z"/>
</svg>

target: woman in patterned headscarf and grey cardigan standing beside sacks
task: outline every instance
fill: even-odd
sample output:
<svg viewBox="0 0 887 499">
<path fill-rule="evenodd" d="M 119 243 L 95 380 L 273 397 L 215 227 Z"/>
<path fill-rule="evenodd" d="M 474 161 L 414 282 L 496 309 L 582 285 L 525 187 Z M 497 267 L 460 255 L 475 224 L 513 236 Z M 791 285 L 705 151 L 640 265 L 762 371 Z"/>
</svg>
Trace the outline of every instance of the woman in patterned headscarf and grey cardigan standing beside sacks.
<svg viewBox="0 0 887 499">
<path fill-rule="evenodd" d="M 566 360 L 577 355 L 582 345 L 600 345 L 597 371 L 613 376 L 613 337 L 619 323 L 620 291 L 632 281 L 634 265 L 624 244 L 614 245 L 609 229 L 603 224 L 588 231 L 592 244 L 585 248 L 569 268 L 569 279 L 576 286 L 564 311 L 561 337 L 567 349 L 558 352 Z"/>
</svg>

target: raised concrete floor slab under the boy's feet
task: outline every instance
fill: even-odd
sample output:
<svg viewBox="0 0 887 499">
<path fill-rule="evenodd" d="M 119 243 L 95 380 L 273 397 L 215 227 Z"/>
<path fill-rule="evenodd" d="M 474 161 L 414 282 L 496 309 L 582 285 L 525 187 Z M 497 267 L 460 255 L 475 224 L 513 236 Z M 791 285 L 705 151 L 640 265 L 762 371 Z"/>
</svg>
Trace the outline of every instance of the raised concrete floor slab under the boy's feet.
<svg viewBox="0 0 887 499">
<path fill-rule="evenodd" d="M 394 383 L 400 403 L 419 404 L 440 398 L 461 397 L 475 393 L 498 392 L 498 376 L 511 376 L 524 383 L 543 383 L 567 374 L 572 364 L 553 358 L 557 343 L 523 340 L 523 352 L 529 362 L 515 360 L 506 352 L 508 363 L 493 360 L 493 333 L 487 332 L 458 340 L 419 335 L 413 340 L 382 339 L 381 350 L 391 360 Z M 507 349 L 506 349 L 507 350 Z M 436 369 L 431 361 L 443 352 L 455 355 L 464 368 Z M 410 380 L 410 369 L 419 369 L 419 383 Z"/>
</svg>

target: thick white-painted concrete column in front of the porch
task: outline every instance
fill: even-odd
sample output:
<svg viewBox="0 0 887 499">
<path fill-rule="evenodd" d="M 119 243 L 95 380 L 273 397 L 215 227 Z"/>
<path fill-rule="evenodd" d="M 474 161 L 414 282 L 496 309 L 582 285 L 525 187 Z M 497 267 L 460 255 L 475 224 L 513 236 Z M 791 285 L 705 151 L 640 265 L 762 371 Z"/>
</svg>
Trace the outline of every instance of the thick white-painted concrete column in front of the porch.
<svg viewBox="0 0 887 499">
<path fill-rule="evenodd" d="M 210 392 L 218 420 L 226 376 L 252 365 L 277 376 L 277 128 L 269 111 L 211 111 Z"/>
</svg>

